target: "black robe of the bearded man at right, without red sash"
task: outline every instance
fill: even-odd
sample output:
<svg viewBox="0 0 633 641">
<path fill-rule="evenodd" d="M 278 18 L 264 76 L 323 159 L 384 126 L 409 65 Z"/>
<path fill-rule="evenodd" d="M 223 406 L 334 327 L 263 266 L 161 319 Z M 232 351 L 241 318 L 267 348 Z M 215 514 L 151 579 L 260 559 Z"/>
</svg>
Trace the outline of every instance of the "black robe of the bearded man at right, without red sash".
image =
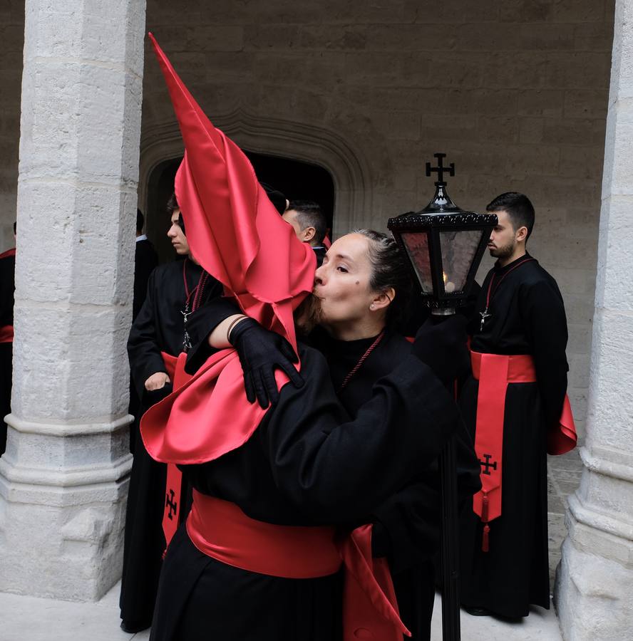
<svg viewBox="0 0 633 641">
<path fill-rule="evenodd" d="M 537 261 L 493 268 L 478 300 L 483 329 L 472 323 L 475 352 L 529 354 L 537 382 L 510 383 L 503 425 L 502 514 L 490 522 L 490 551 L 481 550 L 483 525 L 466 514 L 461 537 L 461 599 L 506 617 L 524 617 L 530 604 L 549 608 L 547 560 L 547 428 L 556 424 L 567 390 L 567 320 L 556 281 Z M 505 276 L 507 274 L 507 276 Z M 505 276 L 505 277 L 504 277 Z M 503 280 L 501 280 L 503 278 Z M 495 284 L 498 288 L 495 289 Z M 460 407 L 473 440 L 478 382 L 465 383 Z"/>
</svg>

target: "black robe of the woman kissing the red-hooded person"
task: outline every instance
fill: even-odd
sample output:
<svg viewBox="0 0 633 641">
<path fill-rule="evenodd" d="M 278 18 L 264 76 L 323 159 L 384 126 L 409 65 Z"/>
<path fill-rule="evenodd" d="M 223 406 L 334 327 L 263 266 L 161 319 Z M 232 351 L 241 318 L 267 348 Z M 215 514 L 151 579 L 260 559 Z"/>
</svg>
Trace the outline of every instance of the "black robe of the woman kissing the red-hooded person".
<svg viewBox="0 0 633 641">
<path fill-rule="evenodd" d="M 358 363 L 374 338 L 335 340 L 324 330 L 315 330 L 312 344 L 326 356 L 331 380 L 339 390 L 344 378 Z M 374 382 L 394 370 L 411 353 L 411 343 L 387 330 L 378 347 L 369 355 L 339 399 L 351 416 L 373 393 Z M 463 422 L 457 429 L 458 489 L 461 503 L 472 500 L 480 489 L 479 465 L 473 443 Z M 374 509 L 366 521 L 374 524 L 374 556 L 386 556 L 398 608 L 412 641 L 431 638 L 431 617 L 435 600 L 433 558 L 441 536 L 441 486 L 438 461 L 420 466 L 416 479 L 398 489 Z"/>
</svg>

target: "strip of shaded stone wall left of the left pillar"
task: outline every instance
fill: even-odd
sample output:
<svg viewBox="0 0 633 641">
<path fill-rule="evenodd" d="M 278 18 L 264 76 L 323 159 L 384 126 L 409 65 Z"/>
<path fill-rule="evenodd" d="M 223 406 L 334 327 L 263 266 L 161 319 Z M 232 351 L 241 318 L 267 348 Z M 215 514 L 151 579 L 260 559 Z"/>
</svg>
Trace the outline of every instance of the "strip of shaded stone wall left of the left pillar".
<svg viewBox="0 0 633 641">
<path fill-rule="evenodd" d="M 24 0 L 0 2 L 0 253 L 14 246 Z"/>
</svg>

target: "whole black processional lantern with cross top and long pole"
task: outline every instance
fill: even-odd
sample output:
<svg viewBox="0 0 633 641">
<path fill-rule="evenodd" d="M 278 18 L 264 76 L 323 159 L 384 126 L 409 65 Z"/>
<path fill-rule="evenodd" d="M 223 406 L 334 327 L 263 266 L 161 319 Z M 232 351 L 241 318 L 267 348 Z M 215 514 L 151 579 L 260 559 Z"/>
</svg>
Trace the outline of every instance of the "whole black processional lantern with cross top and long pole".
<svg viewBox="0 0 633 641">
<path fill-rule="evenodd" d="M 497 224 L 495 214 L 465 212 L 446 192 L 444 174 L 455 175 L 455 164 L 443 166 L 446 154 L 434 154 L 438 167 L 426 163 L 426 175 L 438 174 L 436 194 L 421 212 L 389 219 L 388 228 L 408 256 L 423 301 L 436 318 L 455 313 L 466 302 L 475 273 Z M 438 318 L 438 320 L 440 320 Z M 458 509 L 455 438 L 440 457 L 442 490 L 442 629 L 445 641 L 460 639 Z"/>
</svg>

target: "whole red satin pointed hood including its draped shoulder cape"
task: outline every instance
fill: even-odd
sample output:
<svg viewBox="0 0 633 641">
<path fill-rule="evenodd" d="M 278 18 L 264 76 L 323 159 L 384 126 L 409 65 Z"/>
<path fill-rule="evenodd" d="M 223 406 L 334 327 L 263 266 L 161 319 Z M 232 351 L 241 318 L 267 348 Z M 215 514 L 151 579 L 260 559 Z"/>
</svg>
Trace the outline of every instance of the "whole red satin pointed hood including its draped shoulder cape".
<svg viewBox="0 0 633 641">
<path fill-rule="evenodd" d="M 192 254 L 245 313 L 296 348 L 292 312 L 312 290 L 314 251 L 279 216 L 247 157 L 210 123 L 150 38 L 185 141 L 175 190 Z M 143 442 L 158 461 L 212 461 L 245 443 L 266 410 L 247 401 L 235 350 L 213 354 L 190 380 L 182 356 L 175 391 L 143 415 Z M 280 370 L 275 379 L 279 387 L 288 381 Z"/>
</svg>

